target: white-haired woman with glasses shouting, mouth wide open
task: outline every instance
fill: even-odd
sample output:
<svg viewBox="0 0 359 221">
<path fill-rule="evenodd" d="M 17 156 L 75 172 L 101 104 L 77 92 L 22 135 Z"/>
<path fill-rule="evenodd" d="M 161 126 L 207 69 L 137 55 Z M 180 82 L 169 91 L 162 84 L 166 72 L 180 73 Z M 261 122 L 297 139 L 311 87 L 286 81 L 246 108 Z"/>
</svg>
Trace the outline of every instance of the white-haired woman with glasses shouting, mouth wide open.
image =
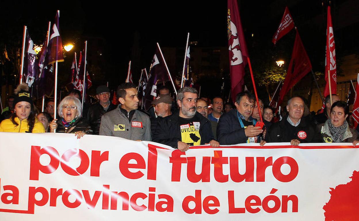
<svg viewBox="0 0 359 221">
<path fill-rule="evenodd" d="M 50 123 L 50 132 L 74 133 L 78 139 L 85 134 L 92 134 L 90 124 L 81 117 L 81 102 L 76 97 L 67 96 L 59 104 L 57 109 L 59 120 L 55 119 Z"/>
</svg>

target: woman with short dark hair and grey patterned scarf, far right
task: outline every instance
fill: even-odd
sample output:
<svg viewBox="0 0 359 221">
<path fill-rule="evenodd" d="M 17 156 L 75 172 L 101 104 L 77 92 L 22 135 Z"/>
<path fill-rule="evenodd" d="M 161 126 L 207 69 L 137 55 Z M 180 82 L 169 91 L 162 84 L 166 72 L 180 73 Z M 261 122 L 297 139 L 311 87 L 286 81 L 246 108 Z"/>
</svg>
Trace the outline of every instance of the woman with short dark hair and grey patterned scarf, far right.
<svg viewBox="0 0 359 221">
<path fill-rule="evenodd" d="M 337 101 L 330 109 L 330 119 L 321 127 L 321 135 L 325 143 L 353 142 L 355 146 L 359 134 L 349 128 L 346 118 L 349 114 L 349 106 L 344 101 Z"/>
</svg>

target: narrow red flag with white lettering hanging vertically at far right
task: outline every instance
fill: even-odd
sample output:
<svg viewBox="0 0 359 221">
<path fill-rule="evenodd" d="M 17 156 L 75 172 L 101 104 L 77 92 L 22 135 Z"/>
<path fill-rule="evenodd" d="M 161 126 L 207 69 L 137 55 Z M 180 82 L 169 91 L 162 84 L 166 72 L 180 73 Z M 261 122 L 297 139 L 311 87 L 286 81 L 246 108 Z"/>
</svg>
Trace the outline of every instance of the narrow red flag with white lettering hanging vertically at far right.
<svg viewBox="0 0 359 221">
<path fill-rule="evenodd" d="M 329 90 L 328 72 L 330 75 L 331 90 Z M 324 88 L 324 97 L 326 97 L 330 94 L 336 94 L 335 43 L 334 43 L 332 16 L 330 15 L 330 6 L 328 6 L 328 15 L 327 15 L 327 46 L 326 46 L 326 56 L 325 56 L 325 81 L 327 83 Z"/>
</svg>

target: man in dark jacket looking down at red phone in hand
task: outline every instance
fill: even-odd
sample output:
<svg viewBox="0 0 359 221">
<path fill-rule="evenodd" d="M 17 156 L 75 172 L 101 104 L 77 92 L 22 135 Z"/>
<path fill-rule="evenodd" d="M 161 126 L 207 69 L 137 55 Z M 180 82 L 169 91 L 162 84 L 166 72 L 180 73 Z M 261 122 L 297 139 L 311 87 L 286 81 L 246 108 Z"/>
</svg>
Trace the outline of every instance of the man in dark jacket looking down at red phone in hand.
<svg viewBox="0 0 359 221">
<path fill-rule="evenodd" d="M 217 138 L 221 144 L 257 143 L 263 130 L 256 125 L 252 112 L 256 98 L 252 93 L 241 92 L 236 96 L 236 109 L 221 116 L 217 126 Z M 261 141 L 261 145 L 264 145 Z"/>
</svg>

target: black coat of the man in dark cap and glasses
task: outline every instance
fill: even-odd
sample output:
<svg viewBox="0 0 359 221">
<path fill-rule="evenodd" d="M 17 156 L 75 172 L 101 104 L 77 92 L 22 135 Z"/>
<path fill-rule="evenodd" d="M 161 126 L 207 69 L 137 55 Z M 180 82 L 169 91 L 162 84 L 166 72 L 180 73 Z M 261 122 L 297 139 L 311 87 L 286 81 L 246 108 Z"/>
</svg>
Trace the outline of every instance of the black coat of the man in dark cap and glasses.
<svg viewBox="0 0 359 221">
<path fill-rule="evenodd" d="M 93 134 L 99 134 L 102 115 L 106 114 L 109 111 L 115 110 L 116 107 L 117 105 L 110 103 L 107 111 L 105 111 L 103 109 L 103 106 L 99 102 L 90 106 L 87 113 L 87 119 L 93 130 Z"/>
</svg>

